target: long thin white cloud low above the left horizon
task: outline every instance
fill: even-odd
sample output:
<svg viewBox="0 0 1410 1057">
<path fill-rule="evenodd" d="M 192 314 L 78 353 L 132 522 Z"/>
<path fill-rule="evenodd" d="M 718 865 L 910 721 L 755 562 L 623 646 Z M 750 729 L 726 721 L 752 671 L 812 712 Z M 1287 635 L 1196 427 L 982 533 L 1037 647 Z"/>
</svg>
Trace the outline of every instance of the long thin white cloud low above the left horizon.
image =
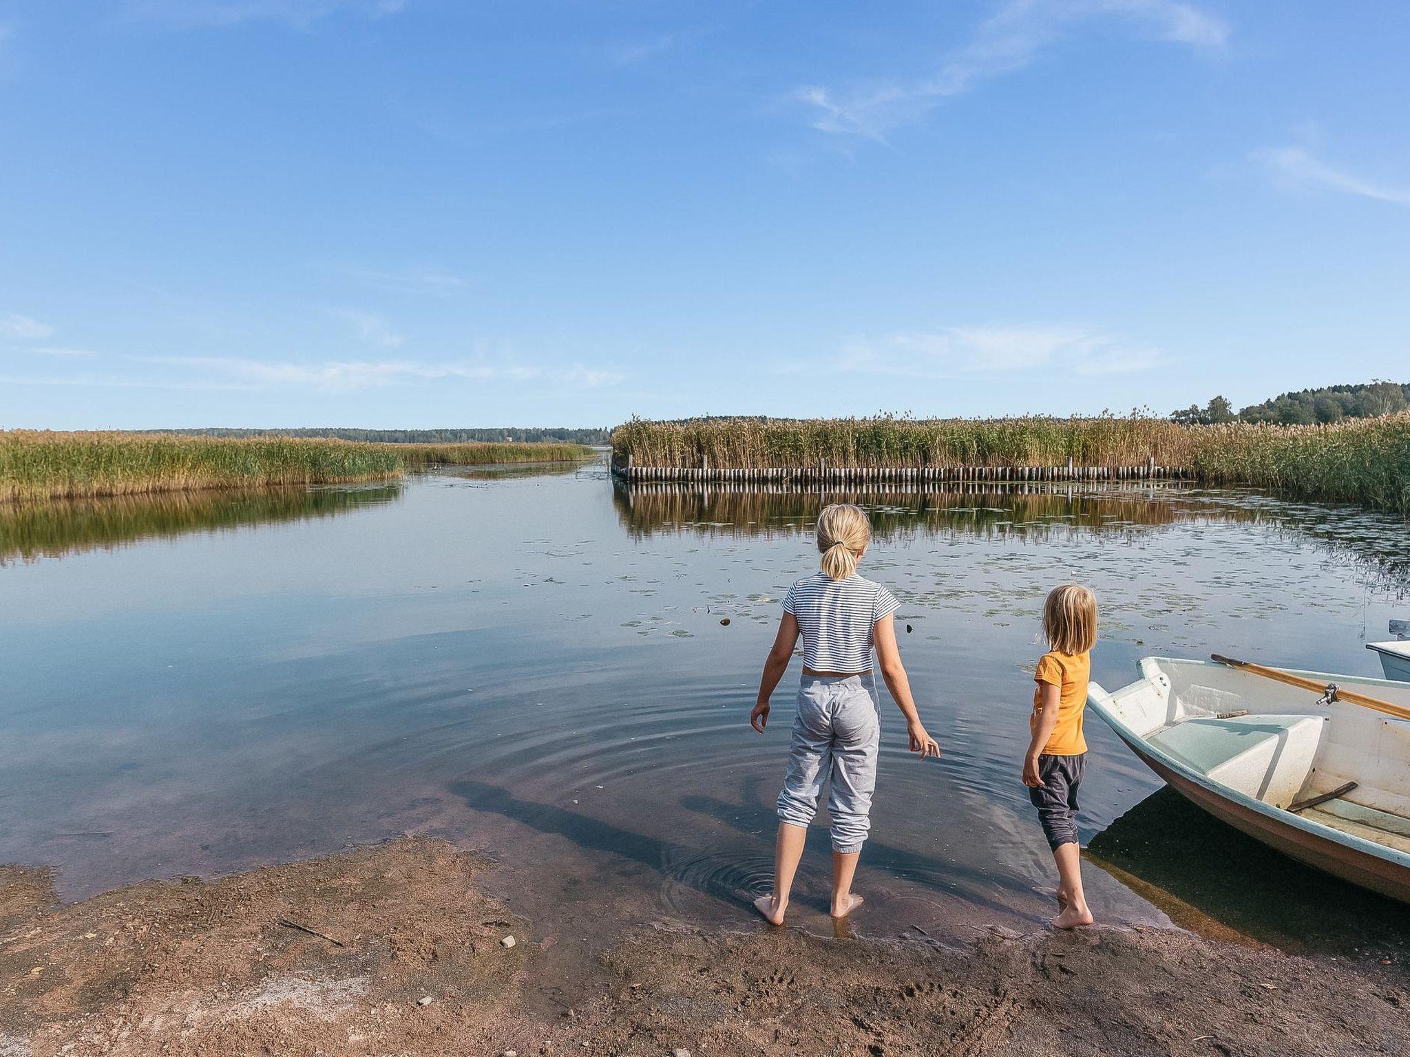
<svg viewBox="0 0 1410 1057">
<path fill-rule="evenodd" d="M 368 389 L 437 379 L 477 382 L 544 382 L 591 389 L 616 385 L 626 375 L 581 364 L 543 366 L 523 364 L 426 362 L 413 359 L 333 359 L 321 362 L 247 359 L 241 357 L 128 357 L 140 364 L 204 371 L 244 386 L 307 386 Z"/>
</svg>

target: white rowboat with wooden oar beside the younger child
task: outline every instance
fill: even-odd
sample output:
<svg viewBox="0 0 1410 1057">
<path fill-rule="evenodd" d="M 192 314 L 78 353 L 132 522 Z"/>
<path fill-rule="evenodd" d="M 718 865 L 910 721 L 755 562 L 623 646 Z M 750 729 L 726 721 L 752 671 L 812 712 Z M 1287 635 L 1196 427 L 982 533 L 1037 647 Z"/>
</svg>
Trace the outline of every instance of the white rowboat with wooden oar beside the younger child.
<svg viewBox="0 0 1410 1057">
<path fill-rule="evenodd" d="M 1255 840 L 1410 902 L 1410 719 L 1210 661 L 1146 657 L 1087 700 L 1160 778 Z M 1410 684 L 1287 672 L 1410 716 Z"/>
</svg>

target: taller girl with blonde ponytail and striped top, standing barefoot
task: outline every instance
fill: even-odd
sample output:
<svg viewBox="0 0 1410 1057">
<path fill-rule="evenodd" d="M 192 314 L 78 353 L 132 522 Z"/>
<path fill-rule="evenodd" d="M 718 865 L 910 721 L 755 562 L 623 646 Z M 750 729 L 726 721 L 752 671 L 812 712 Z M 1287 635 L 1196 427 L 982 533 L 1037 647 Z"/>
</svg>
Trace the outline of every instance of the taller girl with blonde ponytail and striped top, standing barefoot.
<svg viewBox="0 0 1410 1057">
<path fill-rule="evenodd" d="M 857 562 L 871 543 L 871 526 L 850 503 L 825 506 L 818 517 L 822 571 L 798 581 L 784 598 L 784 616 L 774 648 L 764 661 L 759 703 L 749 722 L 760 734 L 768 723 L 768 698 L 792 660 L 802 636 L 802 685 L 794 719 L 792 748 L 783 792 L 778 793 L 778 840 L 774 850 L 774 891 L 754 906 L 783 925 L 808 823 L 818 810 L 823 781 L 830 785 L 832 916 L 845 917 L 862 905 L 852 891 L 862 844 L 871 829 L 876 789 L 877 716 L 871 651 L 881 678 L 905 716 L 911 751 L 938 757 L 940 747 L 925 733 L 911 698 L 911 685 L 895 647 L 893 614 L 897 600 L 880 583 L 857 575 Z"/>
</svg>

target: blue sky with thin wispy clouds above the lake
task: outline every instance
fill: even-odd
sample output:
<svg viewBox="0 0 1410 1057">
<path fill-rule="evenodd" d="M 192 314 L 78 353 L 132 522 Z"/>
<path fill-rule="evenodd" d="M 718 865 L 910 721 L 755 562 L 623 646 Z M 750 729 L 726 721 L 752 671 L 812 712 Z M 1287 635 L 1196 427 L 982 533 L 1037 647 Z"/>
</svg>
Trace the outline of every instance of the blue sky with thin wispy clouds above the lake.
<svg viewBox="0 0 1410 1057">
<path fill-rule="evenodd" d="M 0 426 L 1410 381 L 1410 4 L 0 0 Z"/>
</svg>

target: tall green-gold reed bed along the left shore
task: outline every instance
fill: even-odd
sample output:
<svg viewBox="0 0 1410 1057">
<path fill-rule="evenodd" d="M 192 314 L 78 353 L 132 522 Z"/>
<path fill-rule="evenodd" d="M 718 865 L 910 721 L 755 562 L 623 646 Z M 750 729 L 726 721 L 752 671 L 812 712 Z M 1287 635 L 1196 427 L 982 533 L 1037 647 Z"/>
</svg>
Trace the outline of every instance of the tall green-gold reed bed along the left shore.
<svg viewBox="0 0 1410 1057">
<path fill-rule="evenodd" d="M 433 464 L 585 458 L 581 444 L 367 444 L 303 437 L 0 431 L 0 502 L 388 481 Z"/>
</svg>

